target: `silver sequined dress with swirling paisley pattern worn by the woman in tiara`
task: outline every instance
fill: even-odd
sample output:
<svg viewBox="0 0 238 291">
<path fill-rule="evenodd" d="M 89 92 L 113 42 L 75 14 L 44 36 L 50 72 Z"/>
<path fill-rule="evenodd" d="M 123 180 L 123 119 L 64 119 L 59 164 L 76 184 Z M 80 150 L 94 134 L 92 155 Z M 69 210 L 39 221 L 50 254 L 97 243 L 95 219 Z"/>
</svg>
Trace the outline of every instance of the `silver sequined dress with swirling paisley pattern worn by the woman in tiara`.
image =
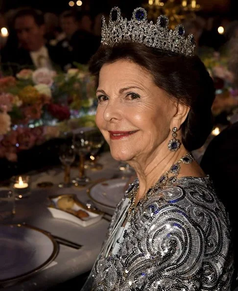
<svg viewBox="0 0 238 291">
<path fill-rule="evenodd" d="M 210 179 L 180 178 L 158 192 L 138 204 L 116 253 L 99 254 L 83 291 L 230 291 L 229 220 Z"/>
</svg>

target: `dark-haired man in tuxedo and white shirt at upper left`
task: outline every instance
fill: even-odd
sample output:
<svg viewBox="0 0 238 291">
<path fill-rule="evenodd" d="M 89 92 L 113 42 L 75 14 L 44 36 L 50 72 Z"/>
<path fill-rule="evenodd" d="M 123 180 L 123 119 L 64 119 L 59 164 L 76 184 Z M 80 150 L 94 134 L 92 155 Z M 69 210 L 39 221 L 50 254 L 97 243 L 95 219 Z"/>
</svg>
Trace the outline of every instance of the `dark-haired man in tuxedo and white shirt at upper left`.
<svg viewBox="0 0 238 291">
<path fill-rule="evenodd" d="M 5 70 L 16 74 L 22 68 L 63 69 L 67 65 L 67 58 L 62 57 L 62 51 L 46 43 L 44 16 L 40 11 L 20 9 L 15 14 L 13 24 L 18 47 L 5 47 L 1 51 L 1 63 Z"/>
</svg>

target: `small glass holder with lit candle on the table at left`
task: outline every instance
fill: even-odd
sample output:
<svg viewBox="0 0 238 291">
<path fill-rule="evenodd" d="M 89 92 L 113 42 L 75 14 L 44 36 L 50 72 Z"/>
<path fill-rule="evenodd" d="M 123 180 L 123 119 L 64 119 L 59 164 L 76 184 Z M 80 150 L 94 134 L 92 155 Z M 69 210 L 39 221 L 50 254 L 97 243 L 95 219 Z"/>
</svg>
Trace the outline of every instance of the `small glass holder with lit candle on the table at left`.
<svg viewBox="0 0 238 291">
<path fill-rule="evenodd" d="M 16 199 L 22 199 L 30 196 L 30 177 L 15 176 L 12 177 L 12 190 L 15 193 Z"/>
</svg>

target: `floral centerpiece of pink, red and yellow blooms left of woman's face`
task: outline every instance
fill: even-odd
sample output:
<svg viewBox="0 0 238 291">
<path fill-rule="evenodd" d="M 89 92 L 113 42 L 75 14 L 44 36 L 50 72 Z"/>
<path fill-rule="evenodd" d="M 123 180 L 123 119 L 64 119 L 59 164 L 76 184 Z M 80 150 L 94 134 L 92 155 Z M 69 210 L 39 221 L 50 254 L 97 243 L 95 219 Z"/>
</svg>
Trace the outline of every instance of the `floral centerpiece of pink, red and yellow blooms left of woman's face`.
<svg viewBox="0 0 238 291">
<path fill-rule="evenodd" d="M 17 154 L 73 127 L 95 126 L 94 79 L 87 67 L 67 73 L 23 69 L 0 78 L 0 158 Z M 91 109 L 91 112 L 90 112 Z"/>
</svg>

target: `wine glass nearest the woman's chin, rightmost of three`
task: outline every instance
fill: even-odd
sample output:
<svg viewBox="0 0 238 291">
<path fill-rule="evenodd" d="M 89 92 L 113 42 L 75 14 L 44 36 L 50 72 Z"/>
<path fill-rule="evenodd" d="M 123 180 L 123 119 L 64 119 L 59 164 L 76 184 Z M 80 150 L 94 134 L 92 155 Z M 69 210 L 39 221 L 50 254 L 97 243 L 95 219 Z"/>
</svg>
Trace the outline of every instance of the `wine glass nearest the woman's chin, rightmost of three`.
<svg viewBox="0 0 238 291">
<path fill-rule="evenodd" d="M 102 145 L 104 144 L 105 140 L 103 135 L 99 131 L 95 131 L 91 135 L 91 152 L 90 152 L 90 169 L 91 170 L 101 170 L 102 169 L 102 164 L 98 163 L 96 160 L 98 158 L 98 152 Z"/>
</svg>

